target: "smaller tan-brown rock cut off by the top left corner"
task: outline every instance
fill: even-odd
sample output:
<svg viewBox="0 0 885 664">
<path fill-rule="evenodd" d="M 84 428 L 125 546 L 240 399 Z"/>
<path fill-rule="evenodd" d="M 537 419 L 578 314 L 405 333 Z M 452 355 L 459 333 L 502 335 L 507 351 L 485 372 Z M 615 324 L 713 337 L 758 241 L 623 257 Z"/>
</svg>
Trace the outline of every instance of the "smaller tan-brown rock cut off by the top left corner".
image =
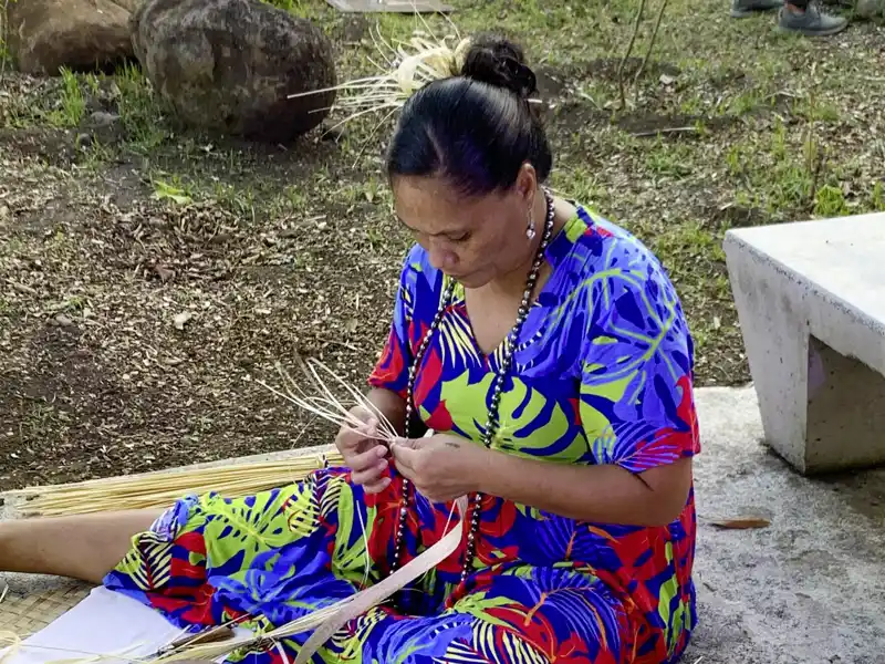
<svg viewBox="0 0 885 664">
<path fill-rule="evenodd" d="M 9 50 L 29 74 L 104 69 L 133 56 L 128 8 L 137 0 L 11 0 Z"/>
</svg>

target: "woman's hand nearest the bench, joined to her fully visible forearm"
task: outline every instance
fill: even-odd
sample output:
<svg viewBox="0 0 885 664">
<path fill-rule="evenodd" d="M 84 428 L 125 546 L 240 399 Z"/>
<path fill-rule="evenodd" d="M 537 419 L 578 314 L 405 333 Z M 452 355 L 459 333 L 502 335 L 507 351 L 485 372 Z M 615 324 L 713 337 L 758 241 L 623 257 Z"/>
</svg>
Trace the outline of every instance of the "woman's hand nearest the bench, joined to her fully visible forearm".
<svg viewBox="0 0 885 664">
<path fill-rule="evenodd" d="M 431 502 L 448 502 L 479 491 L 492 453 L 449 434 L 400 438 L 391 452 L 399 473 Z"/>
</svg>

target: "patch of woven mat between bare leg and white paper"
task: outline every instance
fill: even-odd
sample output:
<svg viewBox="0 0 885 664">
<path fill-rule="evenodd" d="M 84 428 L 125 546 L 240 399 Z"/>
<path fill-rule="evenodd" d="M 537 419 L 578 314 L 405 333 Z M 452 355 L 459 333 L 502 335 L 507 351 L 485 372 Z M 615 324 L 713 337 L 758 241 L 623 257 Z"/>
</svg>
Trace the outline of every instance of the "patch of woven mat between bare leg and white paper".
<svg viewBox="0 0 885 664">
<path fill-rule="evenodd" d="M 85 583 L 67 580 L 60 580 L 55 588 L 27 595 L 17 594 L 10 588 L 0 603 L 0 632 L 12 632 L 22 639 L 30 636 L 76 606 L 91 590 Z"/>
</svg>

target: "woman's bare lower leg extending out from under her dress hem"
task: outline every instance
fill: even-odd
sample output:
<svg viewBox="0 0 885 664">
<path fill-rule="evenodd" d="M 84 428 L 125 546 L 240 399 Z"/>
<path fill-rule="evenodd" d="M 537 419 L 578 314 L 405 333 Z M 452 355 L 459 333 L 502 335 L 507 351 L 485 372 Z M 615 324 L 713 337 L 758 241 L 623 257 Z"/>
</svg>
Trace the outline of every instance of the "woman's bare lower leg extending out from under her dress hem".
<svg viewBox="0 0 885 664">
<path fill-rule="evenodd" d="M 0 523 L 0 571 L 72 577 L 101 583 L 126 556 L 154 510 L 29 519 Z"/>
</svg>

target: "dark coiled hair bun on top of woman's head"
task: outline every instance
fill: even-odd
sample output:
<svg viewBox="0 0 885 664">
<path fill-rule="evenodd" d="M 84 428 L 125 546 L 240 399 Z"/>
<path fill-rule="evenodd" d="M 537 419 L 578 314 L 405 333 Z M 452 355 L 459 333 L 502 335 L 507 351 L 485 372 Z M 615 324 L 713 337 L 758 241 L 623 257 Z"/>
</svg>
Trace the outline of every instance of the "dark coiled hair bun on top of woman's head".
<svg viewBox="0 0 885 664">
<path fill-rule="evenodd" d="M 538 92 L 538 80 L 525 64 L 522 49 L 494 34 L 480 34 L 470 40 L 461 75 L 503 87 L 523 100 Z"/>
</svg>

